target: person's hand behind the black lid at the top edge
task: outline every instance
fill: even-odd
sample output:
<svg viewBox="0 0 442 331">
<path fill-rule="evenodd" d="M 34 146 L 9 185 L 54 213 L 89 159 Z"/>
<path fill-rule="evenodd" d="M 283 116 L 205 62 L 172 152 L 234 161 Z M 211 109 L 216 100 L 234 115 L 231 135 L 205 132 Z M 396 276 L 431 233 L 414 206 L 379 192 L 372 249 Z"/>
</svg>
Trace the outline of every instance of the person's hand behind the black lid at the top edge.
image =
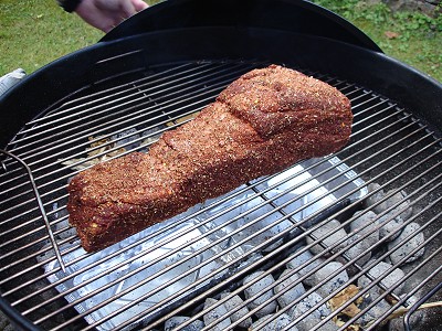
<svg viewBox="0 0 442 331">
<path fill-rule="evenodd" d="M 107 33 L 147 7 L 143 0 L 82 0 L 75 12 L 92 26 Z"/>
</svg>

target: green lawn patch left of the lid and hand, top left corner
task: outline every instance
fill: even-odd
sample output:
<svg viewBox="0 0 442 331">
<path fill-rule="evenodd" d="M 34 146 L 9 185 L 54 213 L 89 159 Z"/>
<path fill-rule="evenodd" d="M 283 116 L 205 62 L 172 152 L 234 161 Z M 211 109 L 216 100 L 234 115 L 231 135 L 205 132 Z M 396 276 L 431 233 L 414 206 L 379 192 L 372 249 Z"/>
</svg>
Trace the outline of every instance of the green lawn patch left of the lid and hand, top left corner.
<svg viewBox="0 0 442 331">
<path fill-rule="evenodd" d="M 1 0 L 0 75 L 17 67 L 32 73 L 102 35 L 54 0 Z"/>
</svg>

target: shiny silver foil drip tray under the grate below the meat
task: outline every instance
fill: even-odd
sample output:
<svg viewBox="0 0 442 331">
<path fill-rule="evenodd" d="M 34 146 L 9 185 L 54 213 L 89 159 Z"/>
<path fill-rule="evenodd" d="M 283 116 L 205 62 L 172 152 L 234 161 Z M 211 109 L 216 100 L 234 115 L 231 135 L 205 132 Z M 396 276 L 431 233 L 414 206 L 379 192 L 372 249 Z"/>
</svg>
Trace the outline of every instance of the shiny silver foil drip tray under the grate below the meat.
<svg viewBox="0 0 442 331">
<path fill-rule="evenodd" d="M 63 255 L 66 273 L 59 271 L 56 260 L 45 263 L 44 270 L 97 330 L 114 330 L 127 321 L 133 325 L 274 249 L 283 242 L 278 234 L 296 235 L 309 226 L 304 221 L 313 215 L 343 199 L 357 201 L 366 194 L 365 182 L 337 157 L 306 160 L 98 253 L 87 255 L 75 248 L 77 242 L 64 245 L 62 250 L 72 250 Z M 299 222 L 302 227 L 296 226 Z"/>
</svg>

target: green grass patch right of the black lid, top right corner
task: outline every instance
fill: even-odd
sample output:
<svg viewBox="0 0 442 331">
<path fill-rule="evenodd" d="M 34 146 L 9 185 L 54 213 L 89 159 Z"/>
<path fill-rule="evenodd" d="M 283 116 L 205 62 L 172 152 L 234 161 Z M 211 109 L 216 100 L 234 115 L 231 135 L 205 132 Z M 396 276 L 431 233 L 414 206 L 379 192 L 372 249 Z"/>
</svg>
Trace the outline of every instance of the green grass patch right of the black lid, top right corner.
<svg viewBox="0 0 442 331">
<path fill-rule="evenodd" d="M 442 82 L 442 14 L 392 12 L 383 2 L 314 1 L 340 14 L 371 38 L 391 57 Z"/>
</svg>

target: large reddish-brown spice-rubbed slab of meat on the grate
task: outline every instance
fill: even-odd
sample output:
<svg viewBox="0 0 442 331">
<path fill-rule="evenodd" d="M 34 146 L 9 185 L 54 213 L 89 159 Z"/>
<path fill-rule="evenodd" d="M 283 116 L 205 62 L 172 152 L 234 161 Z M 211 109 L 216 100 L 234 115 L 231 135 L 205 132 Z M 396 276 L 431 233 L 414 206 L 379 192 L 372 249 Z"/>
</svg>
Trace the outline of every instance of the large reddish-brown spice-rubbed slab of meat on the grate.
<svg viewBox="0 0 442 331">
<path fill-rule="evenodd" d="M 350 102 L 326 83 L 277 65 L 254 70 L 148 153 L 73 178 L 70 223 L 85 250 L 103 249 L 252 179 L 339 150 L 351 121 Z"/>
</svg>

